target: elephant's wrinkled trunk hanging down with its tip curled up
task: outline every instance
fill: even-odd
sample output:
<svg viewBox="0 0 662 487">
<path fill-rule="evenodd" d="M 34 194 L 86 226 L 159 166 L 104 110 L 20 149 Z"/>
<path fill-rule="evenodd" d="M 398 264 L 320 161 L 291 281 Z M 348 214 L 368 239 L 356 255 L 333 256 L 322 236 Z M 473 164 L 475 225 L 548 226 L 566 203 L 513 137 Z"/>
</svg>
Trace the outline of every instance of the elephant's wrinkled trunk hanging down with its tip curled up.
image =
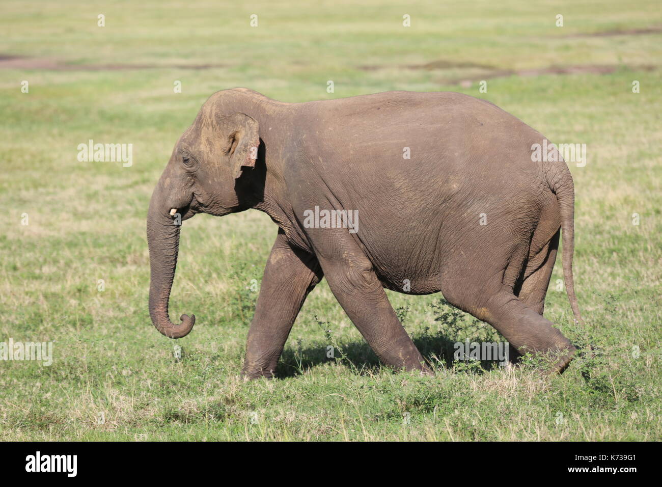
<svg viewBox="0 0 662 487">
<path fill-rule="evenodd" d="M 160 185 L 159 185 L 160 186 Z M 181 324 L 175 325 L 168 315 L 168 301 L 172 288 L 181 223 L 166 208 L 162 188 L 157 187 L 150 200 L 147 217 L 147 243 L 150 248 L 150 317 L 158 331 L 170 338 L 189 334 L 195 324 L 195 315 L 181 315 Z"/>
</svg>

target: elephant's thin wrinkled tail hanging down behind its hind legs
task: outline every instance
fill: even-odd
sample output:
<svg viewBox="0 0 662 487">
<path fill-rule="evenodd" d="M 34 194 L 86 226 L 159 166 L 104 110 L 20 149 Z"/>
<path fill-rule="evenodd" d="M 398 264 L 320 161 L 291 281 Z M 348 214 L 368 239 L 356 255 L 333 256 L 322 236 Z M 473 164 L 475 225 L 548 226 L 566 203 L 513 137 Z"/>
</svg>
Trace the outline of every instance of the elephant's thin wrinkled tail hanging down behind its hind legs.
<svg viewBox="0 0 662 487">
<path fill-rule="evenodd" d="M 575 185 L 573 176 L 563 158 L 558 162 L 544 162 L 544 171 L 549 189 L 559 201 L 561 214 L 561 238 L 563 239 L 563 280 L 568 294 L 570 307 L 573 309 L 575 321 L 582 323 L 579 304 L 575 296 L 575 281 L 573 280 L 573 253 L 575 252 Z"/>
</svg>

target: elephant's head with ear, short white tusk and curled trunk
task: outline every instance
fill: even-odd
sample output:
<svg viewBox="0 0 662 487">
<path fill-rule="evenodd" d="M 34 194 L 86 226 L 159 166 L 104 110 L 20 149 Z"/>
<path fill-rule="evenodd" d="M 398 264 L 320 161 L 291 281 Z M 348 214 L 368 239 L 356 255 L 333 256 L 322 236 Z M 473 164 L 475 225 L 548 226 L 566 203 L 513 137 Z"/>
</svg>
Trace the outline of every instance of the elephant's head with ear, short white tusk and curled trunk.
<svg viewBox="0 0 662 487">
<path fill-rule="evenodd" d="M 195 323 L 195 315 L 181 315 L 179 325 L 168 315 L 181 221 L 201 212 L 220 216 L 245 209 L 239 178 L 258 156 L 258 122 L 245 113 L 222 113 L 216 105 L 207 101 L 181 136 L 150 200 L 150 317 L 166 337 L 184 337 Z"/>
</svg>

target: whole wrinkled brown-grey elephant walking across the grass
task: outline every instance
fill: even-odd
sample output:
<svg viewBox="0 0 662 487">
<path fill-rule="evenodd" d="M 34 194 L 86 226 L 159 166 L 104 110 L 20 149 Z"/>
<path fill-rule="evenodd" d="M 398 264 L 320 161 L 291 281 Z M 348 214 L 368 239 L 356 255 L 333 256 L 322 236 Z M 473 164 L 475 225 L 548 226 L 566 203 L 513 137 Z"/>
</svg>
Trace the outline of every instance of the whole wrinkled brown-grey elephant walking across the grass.
<svg viewBox="0 0 662 487">
<path fill-rule="evenodd" d="M 279 229 L 244 376 L 273 376 L 322 276 L 385 364 L 430 372 L 388 288 L 441 291 L 495 327 L 511 351 L 555 353 L 550 371 L 562 372 L 575 347 L 542 312 L 563 229 L 565 284 L 579 319 L 574 188 L 562 160 L 532 162 L 532 144 L 543 139 L 495 105 L 459 93 L 281 103 L 244 88 L 218 91 L 175 145 L 150 201 L 152 322 L 172 338 L 195 323 L 194 315 L 177 325 L 168 316 L 180 229 L 171 214 L 185 220 L 254 208 Z M 358 231 L 305 228 L 304 211 L 316 205 L 358 210 Z"/>
</svg>

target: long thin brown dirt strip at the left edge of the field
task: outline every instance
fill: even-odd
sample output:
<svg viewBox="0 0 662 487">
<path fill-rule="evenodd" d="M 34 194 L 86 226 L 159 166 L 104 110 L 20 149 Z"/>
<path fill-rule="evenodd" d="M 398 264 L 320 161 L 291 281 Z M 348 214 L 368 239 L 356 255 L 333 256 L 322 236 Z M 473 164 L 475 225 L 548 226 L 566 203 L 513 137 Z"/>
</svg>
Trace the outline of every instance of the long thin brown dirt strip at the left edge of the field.
<svg viewBox="0 0 662 487">
<path fill-rule="evenodd" d="M 55 58 L 27 58 L 0 54 L 0 70 L 38 71 L 123 71 L 123 70 L 209 70 L 223 64 L 68 64 Z"/>
</svg>

